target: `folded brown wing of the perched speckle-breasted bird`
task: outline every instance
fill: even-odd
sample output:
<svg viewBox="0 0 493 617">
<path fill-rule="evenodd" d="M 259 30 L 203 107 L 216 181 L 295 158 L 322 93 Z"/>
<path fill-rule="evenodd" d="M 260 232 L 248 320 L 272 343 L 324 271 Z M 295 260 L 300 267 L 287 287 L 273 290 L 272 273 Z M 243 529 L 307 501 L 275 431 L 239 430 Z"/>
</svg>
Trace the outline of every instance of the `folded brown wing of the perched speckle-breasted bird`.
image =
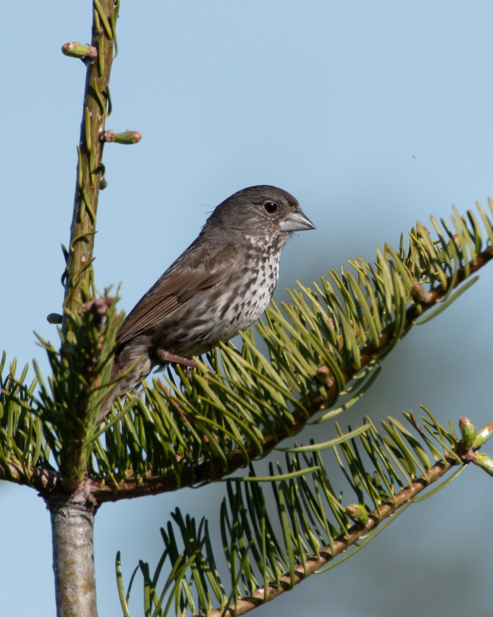
<svg viewBox="0 0 493 617">
<path fill-rule="evenodd" d="M 128 314 L 116 336 L 118 343 L 142 334 L 203 289 L 222 281 L 233 266 L 235 252 L 234 244 L 219 249 L 216 245 L 213 250 L 190 246 Z"/>
</svg>

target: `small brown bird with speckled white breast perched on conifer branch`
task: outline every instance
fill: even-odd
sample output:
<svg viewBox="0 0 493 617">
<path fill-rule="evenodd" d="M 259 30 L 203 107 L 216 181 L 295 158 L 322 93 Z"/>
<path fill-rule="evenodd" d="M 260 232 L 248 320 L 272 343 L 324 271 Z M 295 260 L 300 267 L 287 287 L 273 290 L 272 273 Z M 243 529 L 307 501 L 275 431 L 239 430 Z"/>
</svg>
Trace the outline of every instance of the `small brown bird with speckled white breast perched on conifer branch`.
<svg viewBox="0 0 493 617">
<path fill-rule="evenodd" d="M 295 197 L 275 186 L 250 186 L 221 202 L 118 330 L 114 387 L 98 421 L 153 368 L 194 366 L 192 356 L 249 328 L 274 294 L 291 234 L 313 229 Z"/>
</svg>

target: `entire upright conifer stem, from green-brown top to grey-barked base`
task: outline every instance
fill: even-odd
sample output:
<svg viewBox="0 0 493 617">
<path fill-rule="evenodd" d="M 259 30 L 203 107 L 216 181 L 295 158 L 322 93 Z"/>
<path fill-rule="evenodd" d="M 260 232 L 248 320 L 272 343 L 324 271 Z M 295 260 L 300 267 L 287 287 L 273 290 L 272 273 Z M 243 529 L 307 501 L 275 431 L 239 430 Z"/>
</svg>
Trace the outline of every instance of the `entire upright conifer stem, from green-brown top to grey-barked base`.
<svg viewBox="0 0 493 617">
<path fill-rule="evenodd" d="M 91 45 L 68 43 L 62 48 L 69 56 L 82 57 L 87 72 L 81 136 L 77 148 L 70 245 L 64 273 L 63 343 L 60 355 L 63 367 L 68 367 L 68 374 L 61 371 L 56 376 L 64 381 L 63 384 L 57 384 L 54 376 L 55 386 L 63 385 L 57 402 L 67 411 L 66 417 L 62 418 L 63 429 L 60 431 L 62 483 L 59 489 L 46 498 L 51 512 L 57 617 L 97 617 L 94 573 L 96 506 L 83 492 L 86 460 L 82 444 L 88 431 L 90 386 L 97 377 L 94 375 L 94 358 L 99 357 L 99 337 L 97 327 L 91 327 L 92 322 L 80 320 L 79 327 L 79 320 L 74 319 L 74 316 L 78 317 L 82 312 L 84 287 L 92 279 L 97 203 L 104 175 L 102 154 L 105 120 L 110 109 L 108 82 L 113 62 L 118 6 L 119 0 L 92 0 Z M 70 340 L 67 334 L 70 334 Z M 91 337 L 91 334 L 94 336 Z M 81 352 L 79 363 L 70 362 L 74 354 L 74 343 Z M 95 344 L 95 349 L 92 349 L 91 343 Z M 85 362 L 86 356 L 89 357 L 89 363 Z M 86 392 L 81 384 L 86 384 Z M 68 395 L 65 395 L 66 390 L 69 391 Z"/>
</svg>

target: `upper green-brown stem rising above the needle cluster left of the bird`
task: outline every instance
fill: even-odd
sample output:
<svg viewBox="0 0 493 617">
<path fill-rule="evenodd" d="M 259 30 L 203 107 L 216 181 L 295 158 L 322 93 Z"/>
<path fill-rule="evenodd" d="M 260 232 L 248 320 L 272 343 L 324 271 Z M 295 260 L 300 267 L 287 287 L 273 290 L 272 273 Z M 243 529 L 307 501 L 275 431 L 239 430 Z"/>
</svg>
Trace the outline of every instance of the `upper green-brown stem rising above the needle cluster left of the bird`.
<svg viewBox="0 0 493 617">
<path fill-rule="evenodd" d="M 70 228 L 67 270 L 65 271 L 65 310 L 81 304 L 81 283 L 91 281 L 92 250 L 96 233 L 96 213 L 101 188 L 102 141 L 109 104 L 108 81 L 113 62 L 115 22 L 118 0 L 93 0 L 92 40 L 94 52 L 86 56 L 86 88 L 78 146 L 77 180 Z M 67 320 L 63 318 L 63 331 Z"/>
</svg>

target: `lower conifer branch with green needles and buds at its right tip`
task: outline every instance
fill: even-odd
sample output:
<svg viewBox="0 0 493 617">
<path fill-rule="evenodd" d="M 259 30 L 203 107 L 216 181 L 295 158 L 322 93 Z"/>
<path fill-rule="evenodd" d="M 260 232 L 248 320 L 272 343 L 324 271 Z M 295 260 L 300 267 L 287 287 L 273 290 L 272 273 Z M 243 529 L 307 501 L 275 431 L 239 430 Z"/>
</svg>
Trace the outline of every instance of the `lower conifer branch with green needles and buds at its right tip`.
<svg viewBox="0 0 493 617">
<path fill-rule="evenodd" d="M 144 578 L 145 612 L 163 617 L 176 610 L 181 615 L 242 615 L 310 574 L 341 563 L 394 520 L 399 508 L 402 512 L 410 503 L 436 494 L 468 463 L 493 475 L 493 459 L 479 452 L 493 434 L 493 423 L 478 430 L 471 420 L 460 418 L 459 441 L 450 422 L 446 429 L 423 410 L 423 426 L 412 412 L 404 414 L 411 431 L 388 418 L 381 423 L 385 434 L 380 434 L 367 417 L 349 433 L 337 427 L 339 436 L 329 442 L 287 449 L 287 468 L 269 463 L 268 476 L 259 477 L 250 466 L 247 477 L 228 479 L 219 528 L 229 584 L 221 580 L 208 521 L 202 518 L 199 523 L 176 509 L 173 523 L 161 529 L 164 551 L 155 573 L 145 561 L 137 568 Z M 327 448 L 356 503 L 344 507 L 341 497 L 347 489 L 333 486 L 333 466 L 321 456 Z M 433 465 L 432 460 L 438 462 Z M 417 499 L 454 466 L 456 471 L 446 481 Z M 335 561 L 343 552 L 343 560 Z M 120 557 L 116 568 L 127 614 L 135 572 L 125 594 Z M 217 613 L 211 612 L 213 606 Z"/>
</svg>

